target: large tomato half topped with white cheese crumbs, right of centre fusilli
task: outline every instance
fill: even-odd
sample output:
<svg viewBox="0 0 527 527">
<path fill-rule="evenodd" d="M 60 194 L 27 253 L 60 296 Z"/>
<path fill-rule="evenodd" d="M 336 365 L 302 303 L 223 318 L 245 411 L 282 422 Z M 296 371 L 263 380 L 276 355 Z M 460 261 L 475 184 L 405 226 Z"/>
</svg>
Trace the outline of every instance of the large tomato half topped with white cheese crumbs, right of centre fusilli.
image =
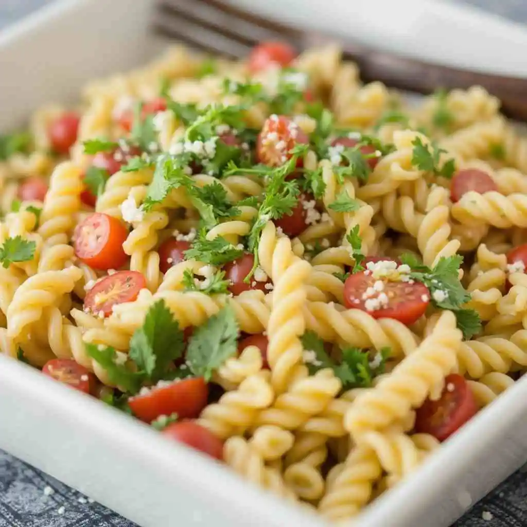
<svg viewBox="0 0 527 527">
<path fill-rule="evenodd" d="M 424 314 L 430 302 L 430 292 L 424 284 L 377 280 L 366 272 L 356 272 L 346 279 L 346 307 L 362 309 L 373 318 L 394 318 L 407 326 Z M 382 291 L 374 290 L 377 281 L 382 281 Z"/>
</svg>

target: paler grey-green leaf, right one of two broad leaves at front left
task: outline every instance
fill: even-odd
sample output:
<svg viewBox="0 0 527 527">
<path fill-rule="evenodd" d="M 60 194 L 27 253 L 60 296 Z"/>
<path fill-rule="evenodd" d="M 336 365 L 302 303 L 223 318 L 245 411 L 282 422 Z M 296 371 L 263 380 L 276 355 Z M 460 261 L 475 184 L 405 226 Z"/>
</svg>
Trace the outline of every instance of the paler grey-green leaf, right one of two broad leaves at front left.
<svg viewBox="0 0 527 527">
<path fill-rule="evenodd" d="M 196 328 L 187 349 L 192 373 L 208 381 L 214 370 L 236 355 L 238 334 L 238 321 L 229 305 Z"/>
</svg>

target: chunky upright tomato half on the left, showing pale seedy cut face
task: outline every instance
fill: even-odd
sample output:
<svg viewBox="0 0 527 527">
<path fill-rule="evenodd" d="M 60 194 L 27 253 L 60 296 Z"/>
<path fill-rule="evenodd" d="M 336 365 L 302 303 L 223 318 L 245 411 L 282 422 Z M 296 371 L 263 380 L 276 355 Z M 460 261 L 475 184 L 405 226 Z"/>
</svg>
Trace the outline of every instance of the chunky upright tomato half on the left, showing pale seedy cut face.
<svg viewBox="0 0 527 527">
<path fill-rule="evenodd" d="M 94 269 L 118 269 L 126 261 L 124 225 L 113 216 L 94 212 L 75 227 L 75 255 Z"/>
</svg>

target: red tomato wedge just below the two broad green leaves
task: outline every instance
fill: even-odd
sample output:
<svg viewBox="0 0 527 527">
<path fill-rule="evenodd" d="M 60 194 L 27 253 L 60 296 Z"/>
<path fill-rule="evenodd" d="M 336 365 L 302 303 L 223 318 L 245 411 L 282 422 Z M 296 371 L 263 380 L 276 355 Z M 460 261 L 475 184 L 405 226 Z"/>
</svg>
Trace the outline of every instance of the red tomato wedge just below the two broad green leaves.
<svg viewBox="0 0 527 527">
<path fill-rule="evenodd" d="M 148 393 L 128 399 L 133 414 L 151 423 L 160 415 L 177 413 L 180 419 L 198 417 L 207 405 L 209 388 L 203 377 L 174 380 L 160 387 L 152 387 Z"/>
</svg>

